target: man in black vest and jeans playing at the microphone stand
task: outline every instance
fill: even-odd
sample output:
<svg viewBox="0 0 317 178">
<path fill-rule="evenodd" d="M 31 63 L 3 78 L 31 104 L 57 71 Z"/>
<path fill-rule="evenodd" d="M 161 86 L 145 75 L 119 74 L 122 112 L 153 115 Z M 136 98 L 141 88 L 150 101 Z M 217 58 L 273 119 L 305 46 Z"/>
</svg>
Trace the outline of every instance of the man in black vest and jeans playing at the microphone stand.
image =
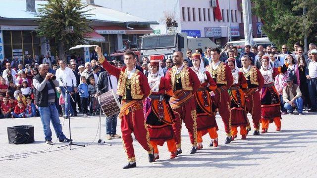
<svg viewBox="0 0 317 178">
<path fill-rule="evenodd" d="M 49 68 L 45 64 L 39 66 L 39 74 L 33 78 L 34 102 L 39 107 L 40 117 L 45 134 L 45 143 L 52 145 L 52 131 L 50 121 L 52 121 L 55 134 L 59 142 L 69 142 L 70 139 L 62 132 L 58 111 L 55 105 L 57 102 L 56 89 L 58 81 L 53 80 L 53 74 L 48 73 Z"/>
</svg>

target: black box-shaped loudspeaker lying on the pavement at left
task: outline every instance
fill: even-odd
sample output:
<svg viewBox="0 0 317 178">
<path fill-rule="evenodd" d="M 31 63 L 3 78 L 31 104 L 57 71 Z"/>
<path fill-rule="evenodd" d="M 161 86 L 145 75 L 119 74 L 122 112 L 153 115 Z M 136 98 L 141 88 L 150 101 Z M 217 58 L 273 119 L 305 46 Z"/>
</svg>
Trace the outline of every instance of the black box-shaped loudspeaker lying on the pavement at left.
<svg viewBox="0 0 317 178">
<path fill-rule="evenodd" d="M 34 142 L 34 126 L 8 127 L 8 139 L 12 144 L 26 144 Z"/>
</svg>

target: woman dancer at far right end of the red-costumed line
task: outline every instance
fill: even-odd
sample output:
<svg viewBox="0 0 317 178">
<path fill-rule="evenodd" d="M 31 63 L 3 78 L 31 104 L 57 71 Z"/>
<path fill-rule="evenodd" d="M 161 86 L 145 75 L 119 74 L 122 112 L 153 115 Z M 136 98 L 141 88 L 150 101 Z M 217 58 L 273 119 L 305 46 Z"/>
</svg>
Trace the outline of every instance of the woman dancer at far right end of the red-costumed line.
<svg viewBox="0 0 317 178">
<path fill-rule="evenodd" d="M 284 68 L 287 68 L 284 64 Z M 278 74 L 277 70 L 281 70 L 282 67 L 275 68 L 273 70 L 269 64 L 268 56 L 262 57 L 262 66 L 260 72 L 264 77 L 264 86 L 261 90 L 261 110 L 262 110 L 262 131 L 264 134 L 267 132 L 269 123 L 274 122 L 276 131 L 281 130 L 281 112 L 280 112 L 280 100 L 277 90 L 274 87 L 275 75 Z"/>
</svg>

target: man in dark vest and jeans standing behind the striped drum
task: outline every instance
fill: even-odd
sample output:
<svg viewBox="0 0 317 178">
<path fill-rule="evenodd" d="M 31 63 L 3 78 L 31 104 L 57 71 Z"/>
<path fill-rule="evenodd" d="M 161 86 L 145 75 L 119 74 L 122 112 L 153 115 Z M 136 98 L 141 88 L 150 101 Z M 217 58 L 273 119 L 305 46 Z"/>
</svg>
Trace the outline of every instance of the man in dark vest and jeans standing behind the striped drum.
<svg viewBox="0 0 317 178">
<path fill-rule="evenodd" d="M 113 75 L 110 75 L 107 71 L 99 74 L 97 82 L 97 95 L 98 97 L 102 93 L 113 89 L 114 93 L 117 91 L 118 81 Z M 119 95 L 116 94 L 116 97 Z M 121 138 L 120 135 L 116 134 L 118 114 L 106 118 L 106 139 Z"/>
</svg>

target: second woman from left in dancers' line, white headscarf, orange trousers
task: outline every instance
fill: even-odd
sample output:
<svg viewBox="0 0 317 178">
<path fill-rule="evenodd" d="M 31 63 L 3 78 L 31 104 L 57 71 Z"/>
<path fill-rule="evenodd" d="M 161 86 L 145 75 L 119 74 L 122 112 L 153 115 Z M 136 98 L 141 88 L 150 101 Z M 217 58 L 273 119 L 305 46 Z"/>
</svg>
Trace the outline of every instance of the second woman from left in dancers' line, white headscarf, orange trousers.
<svg viewBox="0 0 317 178">
<path fill-rule="evenodd" d="M 213 146 L 218 146 L 218 126 L 214 113 L 212 111 L 212 101 L 210 91 L 215 90 L 216 84 L 212 80 L 210 73 L 204 67 L 204 61 L 202 61 L 200 53 L 192 54 L 193 71 L 197 74 L 201 83 L 200 88 L 195 93 L 197 101 L 197 149 L 203 148 L 203 138 L 205 134 L 209 133 Z"/>
</svg>

